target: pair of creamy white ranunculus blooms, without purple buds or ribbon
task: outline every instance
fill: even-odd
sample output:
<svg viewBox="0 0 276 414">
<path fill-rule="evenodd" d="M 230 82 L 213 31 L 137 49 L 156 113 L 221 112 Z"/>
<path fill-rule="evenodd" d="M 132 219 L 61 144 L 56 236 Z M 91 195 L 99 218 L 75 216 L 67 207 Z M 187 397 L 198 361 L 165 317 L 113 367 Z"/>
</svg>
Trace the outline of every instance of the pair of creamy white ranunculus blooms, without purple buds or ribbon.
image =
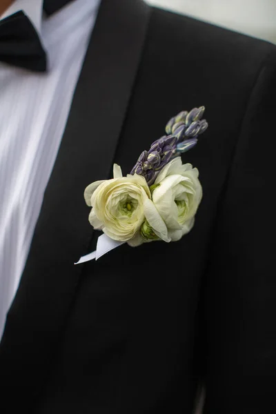
<svg viewBox="0 0 276 414">
<path fill-rule="evenodd" d="M 199 172 L 181 158 L 172 159 L 148 186 L 141 175 L 122 176 L 90 184 L 84 198 L 92 206 L 90 224 L 111 239 L 139 246 L 152 240 L 176 242 L 188 233 L 201 201 Z"/>
</svg>

